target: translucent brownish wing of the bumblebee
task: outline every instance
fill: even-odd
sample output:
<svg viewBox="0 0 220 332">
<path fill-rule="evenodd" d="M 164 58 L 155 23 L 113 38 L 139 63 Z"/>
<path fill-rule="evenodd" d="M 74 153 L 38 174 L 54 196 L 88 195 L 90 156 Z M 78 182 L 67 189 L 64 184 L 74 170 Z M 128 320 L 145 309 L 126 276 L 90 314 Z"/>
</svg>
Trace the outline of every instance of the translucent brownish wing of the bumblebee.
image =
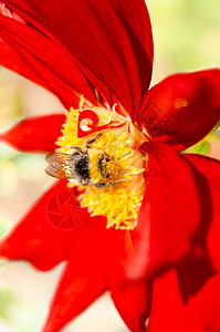
<svg viewBox="0 0 220 332">
<path fill-rule="evenodd" d="M 45 156 L 49 164 L 45 173 L 56 178 L 74 178 L 73 155 L 63 153 L 51 153 Z"/>
</svg>

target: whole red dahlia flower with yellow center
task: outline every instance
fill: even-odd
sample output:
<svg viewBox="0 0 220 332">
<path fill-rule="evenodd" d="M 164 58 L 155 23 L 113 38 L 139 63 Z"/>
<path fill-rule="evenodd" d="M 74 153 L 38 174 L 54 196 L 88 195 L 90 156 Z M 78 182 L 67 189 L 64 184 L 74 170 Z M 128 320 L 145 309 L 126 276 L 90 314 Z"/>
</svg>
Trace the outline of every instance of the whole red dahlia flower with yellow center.
<svg viewBox="0 0 220 332">
<path fill-rule="evenodd" d="M 40 270 L 66 261 L 42 331 L 60 331 L 105 290 L 134 332 L 148 317 L 150 332 L 219 331 L 220 163 L 182 151 L 219 121 L 220 71 L 149 90 L 144 0 L 6 0 L 0 13 L 0 63 L 70 110 L 0 136 L 48 153 L 59 178 L 0 245 L 1 257 Z M 69 208 L 52 217 L 59 197 Z"/>
</svg>

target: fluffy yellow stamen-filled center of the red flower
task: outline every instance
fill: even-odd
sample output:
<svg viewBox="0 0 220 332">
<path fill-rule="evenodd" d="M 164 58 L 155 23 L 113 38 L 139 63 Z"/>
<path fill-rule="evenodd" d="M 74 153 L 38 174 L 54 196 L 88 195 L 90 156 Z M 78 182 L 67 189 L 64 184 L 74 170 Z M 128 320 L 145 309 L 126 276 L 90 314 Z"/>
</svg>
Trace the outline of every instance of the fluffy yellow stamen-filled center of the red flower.
<svg viewBox="0 0 220 332">
<path fill-rule="evenodd" d="M 92 216 L 106 216 L 107 228 L 134 229 L 144 193 L 143 156 L 133 149 L 133 125 L 104 107 L 66 112 L 56 153 L 75 158 L 69 186 L 80 186 L 81 206 Z M 74 162 L 73 162 L 74 163 Z M 77 165 L 76 165 L 77 163 Z"/>
</svg>

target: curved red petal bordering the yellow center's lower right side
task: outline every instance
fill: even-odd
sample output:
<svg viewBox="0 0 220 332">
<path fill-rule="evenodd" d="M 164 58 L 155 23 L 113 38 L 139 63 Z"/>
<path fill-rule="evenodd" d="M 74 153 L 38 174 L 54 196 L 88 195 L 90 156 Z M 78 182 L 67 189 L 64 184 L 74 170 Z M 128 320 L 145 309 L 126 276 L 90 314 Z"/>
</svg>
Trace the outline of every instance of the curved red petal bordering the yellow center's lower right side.
<svg viewBox="0 0 220 332">
<path fill-rule="evenodd" d="M 151 276 L 191 249 L 201 206 L 195 169 L 181 155 L 163 143 L 145 144 L 149 155 L 134 258 L 128 274 Z"/>
</svg>

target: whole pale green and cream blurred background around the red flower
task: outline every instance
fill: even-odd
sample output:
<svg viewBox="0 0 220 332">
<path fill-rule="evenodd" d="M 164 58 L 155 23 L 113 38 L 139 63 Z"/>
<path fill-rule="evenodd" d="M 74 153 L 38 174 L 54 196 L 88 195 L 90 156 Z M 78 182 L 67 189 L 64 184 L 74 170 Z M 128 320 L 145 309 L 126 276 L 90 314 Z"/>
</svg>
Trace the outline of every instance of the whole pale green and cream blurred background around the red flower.
<svg viewBox="0 0 220 332">
<path fill-rule="evenodd" d="M 135 1 L 135 0 L 134 0 Z M 219 0 L 148 0 L 155 39 L 153 83 L 179 71 L 220 66 Z M 33 114 L 61 112 L 59 101 L 0 69 L 0 132 Z M 220 157 L 218 135 L 211 155 Z M 208 141 L 201 152 L 208 152 Z M 25 155 L 0 144 L 0 236 L 11 229 L 53 181 L 44 156 Z M 39 332 L 62 267 L 48 273 L 23 262 L 0 262 L 0 331 Z M 109 297 L 99 299 L 65 332 L 126 332 Z"/>
</svg>

